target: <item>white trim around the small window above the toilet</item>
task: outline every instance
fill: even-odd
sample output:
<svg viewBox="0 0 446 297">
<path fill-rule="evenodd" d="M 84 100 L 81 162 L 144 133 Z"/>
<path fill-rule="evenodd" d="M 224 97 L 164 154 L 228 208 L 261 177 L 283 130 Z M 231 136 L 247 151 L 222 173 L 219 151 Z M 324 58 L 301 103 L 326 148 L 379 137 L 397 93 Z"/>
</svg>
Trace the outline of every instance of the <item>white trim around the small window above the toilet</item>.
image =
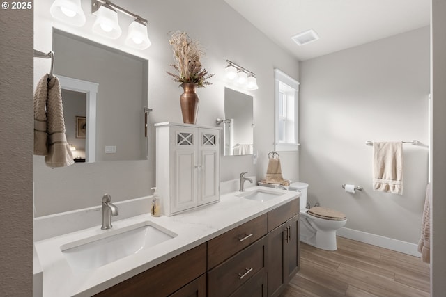
<svg viewBox="0 0 446 297">
<path fill-rule="evenodd" d="M 299 93 L 299 85 L 300 83 L 289 77 L 289 75 L 284 72 L 275 69 L 274 70 L 274 81 L 275 81 L 275 111 L 274 111 L 274 150 L 275 151 L 297 151 L 299 149 L 299 131 L 298 131 L 298 122 L 299 122 L 299 104 L 298 104 L 298 93 Z M 279 83 L 285 83 L 291 88 L 295 89 L 295 143 L 279 143 L 278 135 L 279 135 Z"/>
</svg>

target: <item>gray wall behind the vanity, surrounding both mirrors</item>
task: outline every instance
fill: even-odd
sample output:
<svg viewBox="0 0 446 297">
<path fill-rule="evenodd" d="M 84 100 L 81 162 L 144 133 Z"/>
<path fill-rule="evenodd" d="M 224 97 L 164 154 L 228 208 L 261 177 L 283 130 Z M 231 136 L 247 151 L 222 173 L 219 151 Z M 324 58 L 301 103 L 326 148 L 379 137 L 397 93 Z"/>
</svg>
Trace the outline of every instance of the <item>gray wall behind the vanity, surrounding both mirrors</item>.
<svg viewBox="0 0 446 297">
<path fill-rule="evenodd" d="M 52 49 L 52 28 L 67 31 L 116 47 L 149 61 L 148 105 L 153 109 L 149 120 L 155 122 L 182 122 L 179 96 L 182 89 L 171 81 L 165 72 L 171 71 L 174 62 L 169 45 L 169 31 L 186 31 L 199 39 L 206 47 L 203 65 L 210 73 L 212 86 L 200 88 L 200 106 L 197 124 L 215 125 L 216 118 L 224 116 L 224 67 L 229 59 L 256 73 L 259 90 L 246 92 L 254 97 L 254 144 L 259 150 L 259 161 L 253 165 L 252 156 L 222 156 L 221 179 L 236 179 L 240 172 L 264 178 L 268 152 L 274 149 L 274 73 L 275 67 L 298 79 L 298 61 L 286 51 L 279 49 L 247 20 L 238 15 L 223 0 L 206 1 L 114 1 L 130 11 L 148 19 L 148 32 L 152 45 L 144 51 L 125 47 L 125 31 L 132 22 L 130 17 L 121 17 L 123 36 L 107 40 L 94 35 L 91 25 L 95 17 L 89 13 L 91 1 L 82 0 L 87 22 L 81 28 L 56 22 L 49 15 L 51 1 L 36 1 L 35 47 L 41 51 Z M 174 8 L 174 9 L 173 9 Z M 199 8 L 199 10 L 197 10 Z M 194 16 L 194 17 L 191 17 Z M 57 56 L 57 54 L 56 54 Z M 34 83 L 48 71 L 47 61 L 34 61 Z M 153 126 L 149 131 L 152 139 Z M 282 163 L 282 172 L 287 179 L 298 180 L 298 153 L 282 153 L 287 161 Z M 36 216 L 55 214 L 100 204 L 107 192 L 115 201 L 151 195 L 155 186 L 155 143 L 148 147 L 148 161 L 113 161 L 46 168 L 43 159 L 35 157 L 34 177 L 36 182 Z"/>
</svg>

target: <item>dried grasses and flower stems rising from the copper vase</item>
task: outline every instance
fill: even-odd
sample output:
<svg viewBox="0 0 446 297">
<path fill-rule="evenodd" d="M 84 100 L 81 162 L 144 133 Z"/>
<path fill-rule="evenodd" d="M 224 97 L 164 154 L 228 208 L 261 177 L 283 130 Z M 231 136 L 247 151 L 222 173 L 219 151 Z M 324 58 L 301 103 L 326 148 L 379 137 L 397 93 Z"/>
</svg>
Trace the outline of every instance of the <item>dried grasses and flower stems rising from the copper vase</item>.
<svg viewBox="0 0 446 297">
<path fill-rule="evenodd" d="M 199 87 L 211 85 L 208 79 L 214 74 L 209 74 L 201 65 L 200 58 L 204 56 L 205 51 L 200 42 L 192 40 L 187 33 L 181 31 L 174 31 L 170 35 L 169 43 L 175 59 L 175 64 L 170 66 L 174 67 L 178 74 L 169 71 L 167 74 L 178 83 L 197 83 Z"/>
</svg>

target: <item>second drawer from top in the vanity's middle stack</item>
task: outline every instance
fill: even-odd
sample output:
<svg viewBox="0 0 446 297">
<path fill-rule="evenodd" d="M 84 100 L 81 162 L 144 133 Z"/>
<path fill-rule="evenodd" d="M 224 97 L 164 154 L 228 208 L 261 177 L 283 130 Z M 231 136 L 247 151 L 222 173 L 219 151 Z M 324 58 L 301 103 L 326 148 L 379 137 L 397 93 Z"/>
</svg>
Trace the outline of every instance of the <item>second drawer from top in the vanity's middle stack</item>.
<svg viewBox="0 0 446 297">
<path fill-rule="evenodd" d="M 208 272 L 208 296 L 226 297 L 265 269 L 266 236 Z"/>
</svg>

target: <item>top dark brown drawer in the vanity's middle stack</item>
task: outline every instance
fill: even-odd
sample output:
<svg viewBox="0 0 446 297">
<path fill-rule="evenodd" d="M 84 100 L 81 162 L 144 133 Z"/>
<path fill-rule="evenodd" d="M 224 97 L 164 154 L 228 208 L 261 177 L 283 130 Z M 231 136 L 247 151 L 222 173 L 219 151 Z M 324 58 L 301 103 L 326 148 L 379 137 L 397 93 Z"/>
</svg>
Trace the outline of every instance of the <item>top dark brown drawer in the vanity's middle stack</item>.
<svg viewBox="0 0 446 297">
<path fill-rule="evenodd" d="M 266 234 L 266 227 L 267 214 L 263 214 L 208 241 L 208 269 L 260 239 Z"/>
</svg>

